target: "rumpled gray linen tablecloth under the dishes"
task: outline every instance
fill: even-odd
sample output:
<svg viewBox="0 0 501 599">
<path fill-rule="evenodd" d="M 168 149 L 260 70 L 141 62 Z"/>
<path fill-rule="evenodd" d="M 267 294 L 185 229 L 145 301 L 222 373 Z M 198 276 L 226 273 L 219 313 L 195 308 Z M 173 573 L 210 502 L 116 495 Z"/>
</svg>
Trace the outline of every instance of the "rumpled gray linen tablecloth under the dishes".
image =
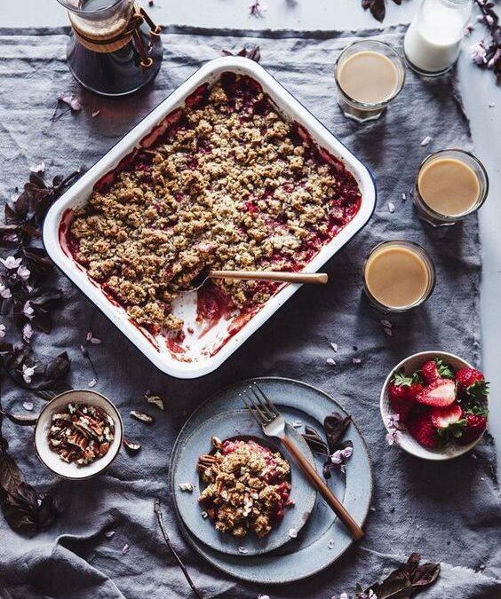
<svg viewBox="0 0 501 599">
<path fill-rule="evenodd" d="M 294 377 L 330 392 L 353 414 L 370 446 L 375 490 L 367 535 L 346 556 L 313 579 L 290 587 L 263 588 L 228 579 L 195 556 L 181 538 L 171 508 L 166 521 L 175 547 L 204 597 L 325 597 L 367 586 L 386 576 L 412 551 L 441 562 L 439 582 L 429 599 L 501 596 L 499 505 L 495 447 L 486 435 L 474 453 L 455 461 L 429 463 L 386 445 L 378 395 L 389 369 L 406 355 L 442 349 L 479 364 L 479 281 L 481 246 L 476 217 L 433 230 L 415 215 L 409 197 L 419 162 L 441 147 L 470 145 L 468 122 L 454 98 L 453 75 L 424 81 L 408 74 L 402 96 L 378 122 L 359 126 L 340 114 L 332 66 L 338 51 L 354 40 L 349 33 L 227 35 L 172 29 L 164 36 L 165 59 L 153 87 L 129 99 L 99 99 L 77 89 L 65 62 L 66 30 L 0 30 L 0 156 L 2 197 L 10 197 L 28 167 L 44 161 L 49 171 L 69 172 L 91 164 L 123 133 L 164 99 L 206 60 L 243 43 L 261 46 L 261 64 L 372 169 L 378 206 L 361 233 L 326 265 L 327 288 L 302 288 L 281 311 L 213 374 L 179 381 L 160 374 L 64 276 L 65 307 L 51 335 L 36 334 L 47 356 L 68 350 L 70 382 L 86 387 L 92 378 L 79 351 L 91 330 L 103 339 L 91 347 L 100 392 L 124 414 L 128 437 L 143 448 L 137 457 L 122 452 L 106 474 L 83 483 L 53 477 L 39 463 L 31 431 L 5 423 L 28 481 L 60 496 L 66 511 L 51 529 L 26 539 L 0 519 L 0 588 L 4 597 L 107 599 L 187 597 L 189 589 L 161 540 L 153 498 L 167 504 L 171 446 L 187 414 L 229 382 L 257 375 Z M 400 44 L 402 30 L 366 32 Z M 60 92 L 74 91 L 79 114 L 52 122 Z M 91 113 L 100 110 L 99 116 Z M 433 141 L 421 146 L 425 136 Z M 388 202 L 394 202 L 390 213 Z M 416 240 L 433 256 L 437 286 L 421 310 L 394 322 L 387 336 L 361 293 L 362 261 L 378 241 Z M 330 342 L 338 343 L 333 355 Z M 357 349 L 355 350 L 354 347 Z M 362 359 L 354 365 L 354 356 Z M 336 358 L 337 365 L 326 360 Z M 133 422 L 131 409 L 145 407 L 147 388 L 161 394 L 165 412 L 155 425 Z M 494 398 L 497 397 L 494 390 Z M 26 395 L 4 388 L 4 406 L 20 409 Z M 35 399 L 36 406 L 43 405 Z M 349 468 L 349 465 L 348 465 Z M 105 529 L 115 531 L 112 539 Z M 123 545 L 130 549 L 123 555 Z"/>
</svg>

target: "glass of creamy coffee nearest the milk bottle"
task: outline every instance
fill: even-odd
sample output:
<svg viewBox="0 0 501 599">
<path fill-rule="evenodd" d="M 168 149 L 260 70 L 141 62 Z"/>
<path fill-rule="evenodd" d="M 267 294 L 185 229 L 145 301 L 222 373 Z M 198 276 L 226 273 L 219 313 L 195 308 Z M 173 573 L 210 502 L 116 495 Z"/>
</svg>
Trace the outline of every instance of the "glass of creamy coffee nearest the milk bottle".
<svg viewBox="0 0 501 599">
<path fill-rule="evenodd" d="M 402 90 L 405 66 L 393 46 L 362 40 L 341 52 L 334 77 L 345 116 L 357 122 L 374 121 Z"/>
</svg>

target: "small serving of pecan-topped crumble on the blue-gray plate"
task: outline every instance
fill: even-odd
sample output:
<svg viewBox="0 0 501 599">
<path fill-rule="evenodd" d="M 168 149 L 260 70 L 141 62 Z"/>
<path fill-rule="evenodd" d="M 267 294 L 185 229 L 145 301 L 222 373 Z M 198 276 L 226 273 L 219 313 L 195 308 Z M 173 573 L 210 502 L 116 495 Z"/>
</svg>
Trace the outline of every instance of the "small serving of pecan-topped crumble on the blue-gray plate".
<svg viewBox="0 0 501 599">
<path fill-rule="evenodd" d="M 213 460 L 204 462 L 213 457 Z M 265 537 L 283 516 L 289 500 L 290 466 L 280 453 L 255 441 L 225 441 L 205 463 L 199 501 L 219 532 L 237 538 L 248 532 Z"/>
</svg>

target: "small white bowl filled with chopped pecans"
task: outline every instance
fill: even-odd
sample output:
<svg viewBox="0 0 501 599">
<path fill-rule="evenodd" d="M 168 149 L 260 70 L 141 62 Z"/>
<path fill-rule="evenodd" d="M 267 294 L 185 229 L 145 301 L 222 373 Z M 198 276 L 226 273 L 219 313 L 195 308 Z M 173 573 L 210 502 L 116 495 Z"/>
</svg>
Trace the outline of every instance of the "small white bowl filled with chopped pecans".
<svg viewBox="0 0 501 599">
<path fill-rule="evenodd" d="M 63 478 L 95 477 L 115 460 L 122 442 L 118 410 L 96 391 L 61 393 L 44 407 L 36 422 L 36 453 Z"/>
</svg>

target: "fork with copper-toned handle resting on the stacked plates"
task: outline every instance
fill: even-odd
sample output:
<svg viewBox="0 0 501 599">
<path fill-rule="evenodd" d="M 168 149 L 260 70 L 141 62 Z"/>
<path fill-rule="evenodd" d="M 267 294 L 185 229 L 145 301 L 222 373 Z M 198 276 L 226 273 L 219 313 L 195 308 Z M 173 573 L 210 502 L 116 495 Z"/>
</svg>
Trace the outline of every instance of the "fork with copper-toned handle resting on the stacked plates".
<svg viewBox="0 0 501 599">
<path fill-rule="evenodd" d="M 294 460 L 298 462 L 300 469 L 303 470 L 306 477 L 310 480 L 310 483 L 322 494 L 323 499 L 327 501 L 330 508 L 334 510 L 335 514 L 346 525 L 354 540 L 362 539 L 362 528 L 356 524 L 345 506 L 330 491 L 330 488 L 318 475 L 310 462 L 306 460 L 305 455 L 301 453 L 298 445 L 285 434 L 285 420 L 282 414 L 276 409 L 273 401 L 266 397 L 265 392 L 258 386 L 258 383 L 254 382 L 250 385 L 249 390 L 239 393 L 239 398 L 242 399 L 243 404 L 249 410 L 254 420 L 258 422 L 265 435 L 267 437 L 278 437 L 282 441 L 282 444 L 287 447 Z"/>
</svg>

